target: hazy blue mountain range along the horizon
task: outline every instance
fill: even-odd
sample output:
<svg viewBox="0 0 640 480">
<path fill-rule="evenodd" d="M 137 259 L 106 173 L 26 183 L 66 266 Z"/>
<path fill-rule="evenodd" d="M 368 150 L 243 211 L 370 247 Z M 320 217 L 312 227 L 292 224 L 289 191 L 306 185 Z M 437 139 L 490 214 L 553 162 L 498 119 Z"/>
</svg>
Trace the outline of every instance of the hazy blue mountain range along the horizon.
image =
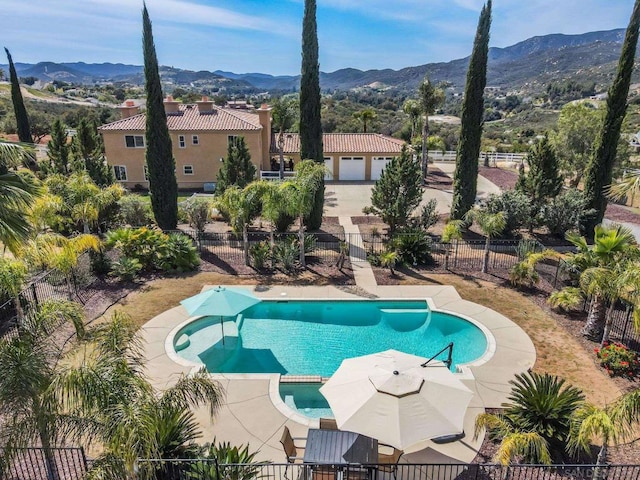
<svg viewBox="0 0 640 480">
<path fill-rule="evenodd" d="M 589 32 L 579 35 L 552 34 L 532 37 L 515 45 L 489 49 L 487 84 L 508 90 L 535 91 L 548 82 L 575 80 L 595 82 L 598 87 L 610 83 L 615 73 L 624 29 Z M 471 47 L 471 46 L 470 46 Z M 432 81 L 448 82 L 462 91 L 469 58 L 449 62 L 429 63 L 400 70 L 358 70 L 344 68 L 320 74 L 323 90 L 349 90 L 373 87 L 377 89 L 414 90 L 428 74 Z M 6 65 L 0 65 L 5 72 Z M 37 64 L 17 63 L 21 77 L 36 77 L 43 81 L 60 80 L 69 83 L 124 82 L 141 85 L 143 67 L 113 63 L 84 62 Z M 197 88 L 225 87 L 236 91 L 292 91 L 298 88 L 298 75 L 273 76 L 264 73 L 236 74 L 221 70 L 190 71 L 161 67 L 165 84 Z"/>
</svg>

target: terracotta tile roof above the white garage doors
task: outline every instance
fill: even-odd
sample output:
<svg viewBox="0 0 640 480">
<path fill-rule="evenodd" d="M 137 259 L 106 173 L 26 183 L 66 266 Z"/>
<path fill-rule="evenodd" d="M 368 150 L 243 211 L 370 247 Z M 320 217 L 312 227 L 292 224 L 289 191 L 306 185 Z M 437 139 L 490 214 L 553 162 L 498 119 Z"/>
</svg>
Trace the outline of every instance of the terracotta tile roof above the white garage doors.
<svg viewBox="0 0 640 480">
<path fill-rule="evenodd" d="M 277 134 L 271 142 L 271 153 L 278 152 Z M 403 140 L 388 137 L 379 133 L 324 133 L 322 149 L 325 154 L 331 153 L 390 153 L 399 154 Z M 284 153 L 300 152 L 300 136 L 297 133 L 286 133 Z"/>
</svg>

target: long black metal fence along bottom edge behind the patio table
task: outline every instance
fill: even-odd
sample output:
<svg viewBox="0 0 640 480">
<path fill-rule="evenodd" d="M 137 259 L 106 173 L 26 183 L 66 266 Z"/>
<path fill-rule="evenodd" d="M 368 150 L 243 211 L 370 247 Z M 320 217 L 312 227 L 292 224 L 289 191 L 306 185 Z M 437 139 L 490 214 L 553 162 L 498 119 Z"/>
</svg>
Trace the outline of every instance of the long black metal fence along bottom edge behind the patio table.
<svg viewBox="0 0 640 480">
<path fill-rule="evenodd" d="M 219 464 L 215 459 L 138 460 L 138 470 L 163 480 L 632 480 L 640 465 Z"/>
</svg>

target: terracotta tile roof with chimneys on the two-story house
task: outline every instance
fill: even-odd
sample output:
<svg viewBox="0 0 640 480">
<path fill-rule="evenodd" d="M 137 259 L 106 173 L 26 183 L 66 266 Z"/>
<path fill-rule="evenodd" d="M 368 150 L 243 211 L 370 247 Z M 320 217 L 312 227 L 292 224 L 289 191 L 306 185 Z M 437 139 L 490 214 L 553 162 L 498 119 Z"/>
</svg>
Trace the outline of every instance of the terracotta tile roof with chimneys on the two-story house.
<svg viewBox="0 0 640 480">
<path fill-rule="evenodd" d="M 180 105 L 180 112 L 167 114 L 169 130 L 260 130 L 258 114 L 213 106 L 211 113 L 201 114 L 196 105 Z M 144 113 L 102 125 L 99 130 L 145 129 Z"/>
</svg>

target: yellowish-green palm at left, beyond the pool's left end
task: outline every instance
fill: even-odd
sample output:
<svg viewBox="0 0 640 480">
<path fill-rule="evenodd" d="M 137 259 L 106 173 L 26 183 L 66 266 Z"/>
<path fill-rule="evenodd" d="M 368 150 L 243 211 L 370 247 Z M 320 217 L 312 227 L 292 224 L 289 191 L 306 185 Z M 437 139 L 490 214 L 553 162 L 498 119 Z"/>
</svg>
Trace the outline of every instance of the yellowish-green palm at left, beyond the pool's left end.
<svg viewBox="0 0 640 480">
<path fill-rule="evenodd" d="M 18 252 L 34 268 L 56 268 L 65 277 L 67 295 L 73 299 L 73 271 L 80 255 L 88 250 L 98 251 L 100 240 L 95 235 L 82 234 L 64 237 L 57 233 L 44 233 L 29 240 Z"/>
</svg>

